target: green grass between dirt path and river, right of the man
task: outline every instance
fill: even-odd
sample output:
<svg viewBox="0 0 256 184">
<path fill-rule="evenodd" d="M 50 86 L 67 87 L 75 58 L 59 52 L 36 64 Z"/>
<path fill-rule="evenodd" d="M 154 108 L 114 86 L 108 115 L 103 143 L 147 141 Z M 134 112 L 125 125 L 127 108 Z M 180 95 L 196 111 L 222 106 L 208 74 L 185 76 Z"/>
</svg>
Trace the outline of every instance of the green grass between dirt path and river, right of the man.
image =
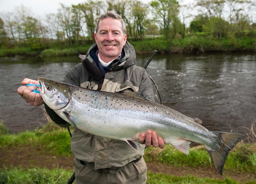
<svg viewBox="0 0 256 184">
<path fill-rule="evenodd" d="M 171 145 L 165 145 L 164 150 L 148 147 L 144 159 L 146 162 L 159 162 L 176 167 L 209 167 L 212 160 L 205 148 L 192 148 L 189 155 L 185 155 Z M 256 145 L 239 143 L 228 154 L 224 170 L 232 172 L 256 172 Z"/>
</svg>

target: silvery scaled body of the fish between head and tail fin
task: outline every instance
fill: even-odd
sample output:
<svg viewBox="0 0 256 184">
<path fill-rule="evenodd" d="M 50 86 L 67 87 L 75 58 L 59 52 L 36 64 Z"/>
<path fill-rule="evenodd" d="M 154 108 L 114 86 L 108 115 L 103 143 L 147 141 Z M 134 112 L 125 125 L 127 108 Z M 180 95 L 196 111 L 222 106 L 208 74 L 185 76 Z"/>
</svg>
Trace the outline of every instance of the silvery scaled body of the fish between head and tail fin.
<svg viewBox="0 0 256 184">
<path fill-rule="evenodd" d="M 109 92 L 103 92 L 103 94 L 99 91 L 90 91 L 89 94 L 85 94 L 79 92 L 79 88 L 72 87 L 71 89 L 71 96 L 74 98 L 72 103 L 76 103 L 72 106 L 73 109 L 71 109 L 71 112 L 77 112 L 77 114 L 73 114 L 74 117 L 81 117 L 75 119 L 76 122 L 81 122 L 81 125 L 77 123 L 76 125 L 80 125 L 83 129 L 88 131 L 92 128 L 93 124 L 95 129 L 92 129 L 93 131 L 89 133 L 94 135 L 103 135 L 106 138 L 113 138 L 113 136 L 115 136 L 114 138 L 120 139 L 121 135 L 126 134 L 123 140 L 136 140 L 139 138 L 140 133 L 146 133 L 148 129 L 154 129 L 157 135 L 163 137 L 167 144 L 171 144 L 173 140 L 179 137 L 190 140 L 189 137 L 191 136 L 194 138 L 199 136 L 197 139 L 198 143 L 206 144 L 211 147 L 212 150 L 218 150 L 220 148 L 220 146 L 216 144 L 218 140 L 214 134 L 204 127 L 198 126 L 199 124 L 196 122 L 186 121 L 187 116 L 179 114 L 177 111 L 173 112 L 173 110 L 168 107 L 165 107 L 163 111 L 160 110 L 161 107 L 159 106 L 161 105 L 157 103 L 125 95 L 120 96 Z M 85 104 L 84 102 L 89 103 Z M 76 107 L 76 109 L 74 107 Z M 79 114 L 83 114 L 83 116 L 79 116 Z M 120 116 L 125 118 L 120 119 Z M 84 119 L 93 120 L 93 122 L 86 124 L 88 127 L 85 127 L 83 125 Z M 104 129 L 98 129 L 97 127 L 102 124 L 104 125 Z M 188 126 L 190 124 L 193 126 Z M 195 126 L 196 128 L 194 128 Z M 122 131 L 120 131 L 120 129 Z M 180 132 L 179 130 L 182 131 Z M 168 138 L 169 132 L 173 133 L 170 138 Z M 212 145 L 209 143 L 212 143 Z"/>
</svg>

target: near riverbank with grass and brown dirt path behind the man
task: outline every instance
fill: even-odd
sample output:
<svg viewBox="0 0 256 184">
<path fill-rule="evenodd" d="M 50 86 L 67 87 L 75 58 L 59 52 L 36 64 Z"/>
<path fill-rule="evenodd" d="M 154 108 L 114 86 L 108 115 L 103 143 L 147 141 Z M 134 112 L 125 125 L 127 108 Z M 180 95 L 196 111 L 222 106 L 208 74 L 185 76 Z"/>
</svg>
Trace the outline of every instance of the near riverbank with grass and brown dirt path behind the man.
<svg viewBox="0 0 256 184">
<path fill-rule="evenodd" d="M 49 123 L 43 129 L 8 134 L 0 126 L 0 183 L 66 183 L 73 174 L 67 129 Z M 185 155 L 166 145 L 145 152 L 148 184 L 256 183 L 256 144 L 239 143 L 228 155 L 223 176 L 199 146 Z"/>
</svg>

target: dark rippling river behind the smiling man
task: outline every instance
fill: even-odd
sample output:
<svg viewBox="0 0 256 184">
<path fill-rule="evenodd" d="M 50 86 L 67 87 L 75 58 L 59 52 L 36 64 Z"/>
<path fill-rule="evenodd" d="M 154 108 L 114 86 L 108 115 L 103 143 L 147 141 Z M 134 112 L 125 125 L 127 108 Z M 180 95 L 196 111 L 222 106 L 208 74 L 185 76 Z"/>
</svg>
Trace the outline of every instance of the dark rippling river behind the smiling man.
<svg viewBox="0 0 256 184">
<path fill-rule="evenodd" d="M 149 55 L 137 55 L 144 66 Z M 27 104 L 17 93 L 23 78 L 62 81 L 77 56 L 11 58 L 0 61 L 0 120 L 11 133 L 47 123 L 43 106 Z M 147 67 L 162 102 L 198 117 L 209 130 L 244 133 L 256 118 L 255 53 L 156 54 Z"/>
</svg>

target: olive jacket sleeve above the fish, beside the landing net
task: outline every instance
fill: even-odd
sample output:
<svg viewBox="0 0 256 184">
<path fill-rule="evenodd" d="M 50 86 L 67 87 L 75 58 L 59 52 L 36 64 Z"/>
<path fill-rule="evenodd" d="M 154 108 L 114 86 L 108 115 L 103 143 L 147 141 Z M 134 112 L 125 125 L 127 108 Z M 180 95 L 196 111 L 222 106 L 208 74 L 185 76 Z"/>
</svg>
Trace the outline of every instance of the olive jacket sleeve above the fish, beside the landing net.
<svg viewBox="0 0 256 184">
<path fill-rule="evenodd" d="M 143 69 L 143 70 L 144 70 L 144 72 L 143 72 L 143 75 L 142 75 L 142 78 L 141 78 L 139 91 L 143 92 L 143 95 L 145 97 L 147 97 L 149 99 L 149 101 L 154 102 L 155 99 L 154 99 L 154 92 L 153 92 L 151 80 L 150 80 L 146 70 L 145 69 Z"/>
</svg>

